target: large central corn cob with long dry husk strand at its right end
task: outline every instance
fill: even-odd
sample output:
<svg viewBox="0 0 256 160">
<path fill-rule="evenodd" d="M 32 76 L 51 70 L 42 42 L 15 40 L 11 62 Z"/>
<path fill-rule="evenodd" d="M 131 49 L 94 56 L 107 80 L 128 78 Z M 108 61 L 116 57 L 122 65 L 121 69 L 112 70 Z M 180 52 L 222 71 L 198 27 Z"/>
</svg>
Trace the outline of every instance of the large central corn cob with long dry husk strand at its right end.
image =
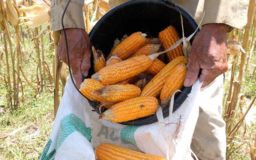
<svg viewBox="0 0 256 160">
<path fill-rule="evenodd" d="M 93 78 L 103 84 L 114 84 L 129 79 L 148 69 L 152 60 L 146 55 L 140 55 L 122 62 L 106 66 L 94 74 Z"/>
</svg>

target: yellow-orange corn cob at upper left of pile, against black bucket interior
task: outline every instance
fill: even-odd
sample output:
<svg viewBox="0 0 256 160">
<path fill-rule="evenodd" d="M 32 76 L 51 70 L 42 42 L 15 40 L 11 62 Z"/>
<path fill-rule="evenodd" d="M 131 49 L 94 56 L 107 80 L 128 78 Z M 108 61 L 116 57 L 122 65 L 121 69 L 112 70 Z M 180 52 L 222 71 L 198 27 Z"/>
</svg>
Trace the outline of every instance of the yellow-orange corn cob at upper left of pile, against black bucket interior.
<svg viewBox="0 0 256 160">
<path fill-rule="evenodd" d="M 132 53 L 136 52 L 143 44 L 146 43 L 146 34 L 141 32 L 135 32 L 131 36 L 128 36 L 120 44 L 117 44 L 111 53 L 108 55 L 107 60 L 111 56 L 117 56 L 121 60 L 129 57 Z"/>
</svg>

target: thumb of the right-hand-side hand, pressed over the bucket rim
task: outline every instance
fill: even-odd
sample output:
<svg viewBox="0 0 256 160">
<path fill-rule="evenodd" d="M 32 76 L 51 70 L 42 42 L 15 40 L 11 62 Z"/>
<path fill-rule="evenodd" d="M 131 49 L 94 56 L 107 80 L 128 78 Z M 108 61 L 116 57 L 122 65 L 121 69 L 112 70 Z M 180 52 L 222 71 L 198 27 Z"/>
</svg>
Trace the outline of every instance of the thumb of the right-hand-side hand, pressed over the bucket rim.
<svg viewBox="0 0 256 160">
<path fill-rule="evenodd" d="M 188 71 L 186 73 L 186 78 L 184 81 L 185 87 L 190 87 L 196 82 L 199 74 L 199 70 L 200 70 L 200 66 L 197 61 L 188 62 Z"/>
</svg>

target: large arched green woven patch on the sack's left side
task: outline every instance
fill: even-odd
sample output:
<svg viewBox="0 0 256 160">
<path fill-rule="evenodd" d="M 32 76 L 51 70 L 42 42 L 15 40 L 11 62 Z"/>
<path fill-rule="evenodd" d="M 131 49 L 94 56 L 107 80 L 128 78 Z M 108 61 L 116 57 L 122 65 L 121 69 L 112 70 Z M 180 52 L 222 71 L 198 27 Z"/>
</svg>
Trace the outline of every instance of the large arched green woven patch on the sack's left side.
<svg viewBox="0 0 256 160">
<path fill-rule="evenodd" d="M 73 132 L 78 131 L 84 135 L 84 137 L 91 142 L 92 133 L 91 128 L 86 127 L 84 122 L 74 114 L 69 114 L 60 120 L 60 134 L 57 142 L 58 150 L 63 141 Z"/>
</svg>

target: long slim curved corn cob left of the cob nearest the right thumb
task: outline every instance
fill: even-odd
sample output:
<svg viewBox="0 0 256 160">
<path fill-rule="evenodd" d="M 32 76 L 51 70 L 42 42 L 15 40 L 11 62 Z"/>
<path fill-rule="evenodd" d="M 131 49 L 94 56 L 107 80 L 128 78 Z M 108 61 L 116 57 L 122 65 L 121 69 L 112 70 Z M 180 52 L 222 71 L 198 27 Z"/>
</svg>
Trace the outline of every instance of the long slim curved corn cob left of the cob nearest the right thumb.
<svg viewBox="0 0 256 160">
<path fill-rule="evenodd" d="M 188 64 L 188 58 L 184 56 L 176 57 L 174 60 L 169 62 L 166 66 L 164 66 L 163 69 L 160 70 L 154 76 L 148 84 L 145 86 L 145 88 L 141 91 L 140 95 L 142 96 L 152 96 L 156 97 L 160 94 L 164 83 L 167 80 L 167 77 L 170 75 L 172 69 L 176 67 L 178 64 Z"/>
</svg>

